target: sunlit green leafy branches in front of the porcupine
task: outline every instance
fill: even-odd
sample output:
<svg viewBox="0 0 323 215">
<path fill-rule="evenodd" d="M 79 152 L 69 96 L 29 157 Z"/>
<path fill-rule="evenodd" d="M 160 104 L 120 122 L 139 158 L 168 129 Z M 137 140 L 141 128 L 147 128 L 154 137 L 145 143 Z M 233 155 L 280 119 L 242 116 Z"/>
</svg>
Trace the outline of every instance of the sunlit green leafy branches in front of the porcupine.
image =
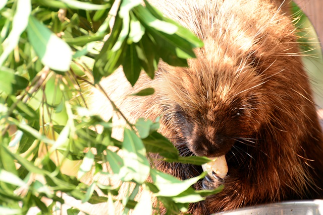
<svg viewBox="0 0 323 215">
<path fill-rule="evenodd" d="M 128 123 L 120 142 L 111 137 L 111 123 L 86 108 L 82 84 L 101 89 L 100 79 L 123 66 L 134 85 L 142 69 L 154 77 L 160 58 L 171 65 L 186 66 L 186 58 L 195 56 L 192 48 L 202 46 L 191 32 L 147 2 L 142 6 L 138 0 L 123 0 L 117 5 L 117 16 L 111 15 L 113 4 L 118 3 L 1 2 L 0 214 L 26 214 L 33 206 L 42 214 L 52 214 L 64 203 L 62 193 L 82 202 L 107 202 L 110 214 L 115 201 L 124 205 L 124 214 L 130 209 L 135 214 L 151 214 L 153 209 L 159 213 L 161 204 L 168 214 L 176 214 L 185 212 L 189 202 L 219 191 L 191 188 L 205 174 L 180 181 L 150 167 L 147 153 L 160 153 L 170 162 L 201 165 L 209 161 L 180 159 L 172 143 L 156 132 L 157 121 Z M 107 34 L 110 36 L 105 40 Z M 152 93 L 150 88 L 136 95 Z M 117 107 L 115 111 L 119 111 Z M 95 125 L 100 125 L 102 132 L 93 129 Z M 117 150 L 112 151 L 112 147 Z M 118 155 L 120 149 L 123 157 Z M 111 172 L 104 171 L 106 163 Z M 66 166 L 72 168 L 66 170 Z M 123 186 L 135 184 L 135 188 L 118 200 L 118 186 L 96 179 L 81 182 L 85 175 L 97 178 L 100 174 L 121 180 Z M 149 176 L 152 181 L 147 182 Z M 139 188 L 143 194 L 137 202 Z M 152 204 L 150 192 L 157 204 Z M 77 214 L 79 210 L 70 208 L 67 212 Z"/>
</svg>

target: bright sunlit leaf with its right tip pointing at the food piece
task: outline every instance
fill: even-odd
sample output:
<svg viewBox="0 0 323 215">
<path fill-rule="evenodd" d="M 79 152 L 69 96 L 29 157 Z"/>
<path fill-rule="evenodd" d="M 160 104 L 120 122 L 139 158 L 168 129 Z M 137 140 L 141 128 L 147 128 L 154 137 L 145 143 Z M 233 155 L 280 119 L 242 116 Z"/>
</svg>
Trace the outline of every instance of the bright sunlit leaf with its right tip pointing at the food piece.
<svg viewBox="0 0 323 215">
<path fill-rule="evenodd" d="M 153 184 L 159 190 L 158 193 L 155 193 L 156 196 L 177 196 L 186 191 L 205 175 L 206 173 L 203 173 L 200 176 L 181 181 L 163 172 L 154 169 L 150 170 L 150 176 L 153 180 Z"/>
</svg>

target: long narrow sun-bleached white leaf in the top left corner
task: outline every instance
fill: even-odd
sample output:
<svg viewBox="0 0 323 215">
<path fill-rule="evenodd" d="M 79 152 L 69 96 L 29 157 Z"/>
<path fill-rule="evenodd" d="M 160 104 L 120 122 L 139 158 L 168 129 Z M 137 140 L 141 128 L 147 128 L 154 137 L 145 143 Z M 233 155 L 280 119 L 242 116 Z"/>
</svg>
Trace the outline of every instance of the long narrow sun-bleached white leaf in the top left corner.
<svg viewBox="0 0 323 215">
<path fill-rule="evenodd" d="M 31 12 L 30 0 L 17 0 L 17 10 L 12 21 L 12 29 L 7 39 L 4 41 L 4 52 L 0 55 L 0 66 L 3 65 L 9 54 L 14 50 L 19 42 L 20 35 L 28 25 L 28 17 Z"/>
</svg>

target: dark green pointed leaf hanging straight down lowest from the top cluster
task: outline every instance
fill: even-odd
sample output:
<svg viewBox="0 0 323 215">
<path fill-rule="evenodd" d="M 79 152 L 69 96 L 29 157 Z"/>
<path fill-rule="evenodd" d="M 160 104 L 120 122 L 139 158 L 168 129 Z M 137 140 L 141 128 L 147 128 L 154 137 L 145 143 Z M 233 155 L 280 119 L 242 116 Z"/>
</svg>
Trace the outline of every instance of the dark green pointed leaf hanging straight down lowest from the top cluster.
<svg viewBox="0 0 323 215">
<path fill-rule="evenodd" d="M 141 71 L 139 58 L 134 44 L 128 46 L 122 66 L 127 80 L 132 86 L 134 86 Z"/>
</svg>

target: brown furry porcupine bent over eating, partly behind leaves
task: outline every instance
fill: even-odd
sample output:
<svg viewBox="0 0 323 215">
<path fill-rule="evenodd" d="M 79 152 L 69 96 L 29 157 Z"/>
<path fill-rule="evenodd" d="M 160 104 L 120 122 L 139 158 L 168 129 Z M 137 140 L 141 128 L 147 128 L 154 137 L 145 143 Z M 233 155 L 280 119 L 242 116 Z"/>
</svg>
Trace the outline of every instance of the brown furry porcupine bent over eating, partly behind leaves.
<svg viewBox="0 0 323 215">
<path fill-rule="evenodd" d="M 116 98 L 132 121 L 162 115 L 160 132 L 182 156 L 226 155 L 224 190 L 192 204 L 190 211 L 208 214 L 264 202 L 322 198 L 322 133 L 295 30 L 281 11 L 281 2 L 153 4 L 191 29 L 204 47 L 196 50 L 197 58 L 189 60 L 188 68 L 160 63 L 154 80 L 142 75 L 134 91 L 153 87 L 154 95 Z M 119 69 L 103 84 L 122 76 Z M 107 91 L 131 91 L 109 83 Z M 93 98 L 92 106 L 105 113 L 99 95 Z M 156 165 L 181 179 L 202 172 L 193 165 Z"/>
</svg>

